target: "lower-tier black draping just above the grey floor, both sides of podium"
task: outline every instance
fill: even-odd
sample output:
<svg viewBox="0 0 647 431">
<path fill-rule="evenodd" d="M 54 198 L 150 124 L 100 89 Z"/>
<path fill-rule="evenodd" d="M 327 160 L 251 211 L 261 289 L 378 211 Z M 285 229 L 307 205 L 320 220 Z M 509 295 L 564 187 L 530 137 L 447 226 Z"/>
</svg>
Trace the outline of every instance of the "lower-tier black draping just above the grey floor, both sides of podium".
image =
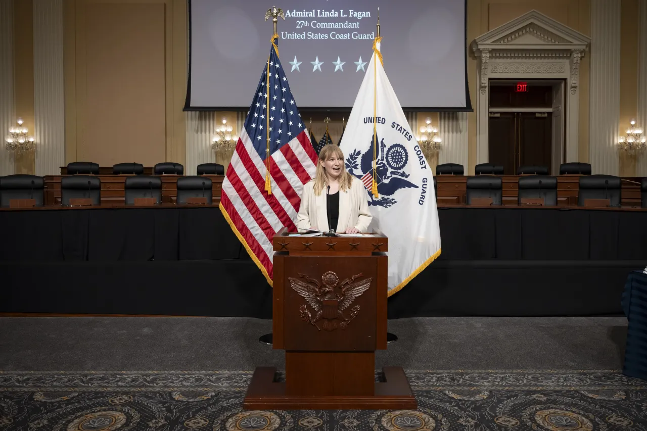
<svg viewBox="0 0 647 431">
<path fill-rule="evenodd" d="M 437 261 L 389 298 L 389 318 L 619 315 L 644 261 Z M 0 262 L 0 312 L 272 318 L 252 260 Z M 259 334 L 260 335 L 260 334 Z"/>
</svg>

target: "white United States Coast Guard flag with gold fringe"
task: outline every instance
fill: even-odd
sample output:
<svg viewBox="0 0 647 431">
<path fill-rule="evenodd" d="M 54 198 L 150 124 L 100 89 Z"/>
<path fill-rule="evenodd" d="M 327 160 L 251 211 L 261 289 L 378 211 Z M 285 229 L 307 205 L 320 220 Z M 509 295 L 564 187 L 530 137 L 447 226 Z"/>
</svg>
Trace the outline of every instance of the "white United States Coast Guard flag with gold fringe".
<svg viewBox="0 0 647 431">
<path fill-rule="evenodd" d="M 340 148 L 346 169 L 366 187 L 371 228 L 389 238 L 391 296 L 441 254 L 441 235 L 433 173 L 384 73 L 380 39 Z"/>
</svg>

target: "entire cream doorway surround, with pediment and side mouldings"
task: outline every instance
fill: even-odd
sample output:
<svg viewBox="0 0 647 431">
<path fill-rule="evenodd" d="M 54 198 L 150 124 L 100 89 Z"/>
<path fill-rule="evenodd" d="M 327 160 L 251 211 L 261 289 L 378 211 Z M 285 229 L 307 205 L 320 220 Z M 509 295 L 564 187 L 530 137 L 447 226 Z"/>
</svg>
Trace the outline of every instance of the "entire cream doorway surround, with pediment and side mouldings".
<svg viewBox="0 0 647 431">
<path fill-rule="evenodd" d="M 567 80 L 566 162 L 578 161 L 580 94 L 578 74 L 591 39 L 536 10 L 479 36 L 472 42 L 479 91 L 476 163 L 488 162 L 490 79 Z"/>
</svg>

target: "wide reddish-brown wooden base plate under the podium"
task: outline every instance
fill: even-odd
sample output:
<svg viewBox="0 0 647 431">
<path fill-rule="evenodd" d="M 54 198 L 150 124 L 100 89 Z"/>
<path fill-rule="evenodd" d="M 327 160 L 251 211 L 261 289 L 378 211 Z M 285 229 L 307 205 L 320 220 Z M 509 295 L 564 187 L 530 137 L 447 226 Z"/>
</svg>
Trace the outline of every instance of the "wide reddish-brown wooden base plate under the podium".
<svg viewBox="0 0 647 431">
<path fill-rule="evenodd" d="M 415 410 L 406 375 L 400 367 L 384 367 L 385 382 L 375 383 L 374 395 L 286 395 L 276 382 L 276 368 L 257 367 L 247 389 L 245 410 Z"/>
</svg>

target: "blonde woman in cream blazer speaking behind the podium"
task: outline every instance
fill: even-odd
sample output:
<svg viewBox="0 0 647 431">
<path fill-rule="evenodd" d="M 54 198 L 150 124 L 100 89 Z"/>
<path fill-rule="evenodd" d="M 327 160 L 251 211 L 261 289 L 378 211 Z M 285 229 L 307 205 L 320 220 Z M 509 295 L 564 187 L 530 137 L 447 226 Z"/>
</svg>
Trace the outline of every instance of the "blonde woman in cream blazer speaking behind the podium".
<svg viewBox="0 0 647 431">
<path fill-rule="evenodd" d="M 324 146 L 316 176 L 303 186 L 296 227 L 356 234 L 367 232 L 371 219 L 364 184 L 346 171 L 338 146 Z"/>
</svg>

